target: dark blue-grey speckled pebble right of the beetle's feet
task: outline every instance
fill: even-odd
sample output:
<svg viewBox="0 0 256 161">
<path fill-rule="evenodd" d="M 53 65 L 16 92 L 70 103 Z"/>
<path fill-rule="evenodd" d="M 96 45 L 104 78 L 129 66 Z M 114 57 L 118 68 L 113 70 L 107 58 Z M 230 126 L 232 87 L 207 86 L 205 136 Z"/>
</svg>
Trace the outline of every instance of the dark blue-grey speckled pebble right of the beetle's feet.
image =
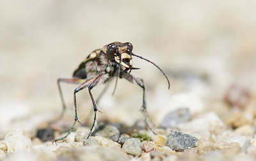
<svg viewBox="0 0 256 161">
<path fill-rule="evenodd" d="M 184 151 L 185 149 L 195 147 L 197 141 L 198 139 L 196 137 L 172 131 L 167 137 L 166 145 L 172 150 Z"/>
</svg>

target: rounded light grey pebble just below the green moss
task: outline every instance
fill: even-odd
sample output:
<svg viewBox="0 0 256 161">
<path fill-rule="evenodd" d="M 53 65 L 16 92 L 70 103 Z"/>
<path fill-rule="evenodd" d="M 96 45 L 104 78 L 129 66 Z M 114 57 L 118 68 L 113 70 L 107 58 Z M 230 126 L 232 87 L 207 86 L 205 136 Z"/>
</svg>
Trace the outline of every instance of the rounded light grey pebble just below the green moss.
<svg viewBox="0 0 256 161">
<path fill-rule="evenodd" d="M 128 139 L 127 141 L 125 141 L 122 149 L 130 155 L 140 156 L 142 153 L 140 139 L 137 139 L 137 138 Z"/>
</svg>

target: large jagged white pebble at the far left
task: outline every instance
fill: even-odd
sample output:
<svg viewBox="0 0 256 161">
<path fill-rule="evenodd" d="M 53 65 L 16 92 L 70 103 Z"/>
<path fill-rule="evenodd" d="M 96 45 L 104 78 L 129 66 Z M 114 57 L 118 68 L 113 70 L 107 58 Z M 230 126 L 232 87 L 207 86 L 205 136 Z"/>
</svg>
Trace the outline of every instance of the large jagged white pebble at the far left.
<svg viewBox="0 0 256 161">
<path fill-rule="evenodd" d="M 7 152 L 32 151 L 31 139 L 24 135 L 22 128 L 13 128 L 5 135 L 4 140 L 8 148 Z"/>
</svg>

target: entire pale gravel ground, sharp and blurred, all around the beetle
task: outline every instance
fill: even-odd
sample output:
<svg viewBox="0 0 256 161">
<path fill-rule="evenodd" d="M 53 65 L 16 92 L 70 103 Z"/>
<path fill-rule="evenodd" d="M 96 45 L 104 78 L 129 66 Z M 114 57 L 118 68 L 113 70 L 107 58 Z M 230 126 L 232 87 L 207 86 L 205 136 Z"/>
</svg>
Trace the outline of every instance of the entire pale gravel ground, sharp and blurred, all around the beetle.
<svg viewBox="0 0 256 161">
<path fill-rule="evenodd" d="M 0 160 L 256 160 L 256 2 L 2 1 Z M 133 75 L 143 78 L 154 135 L 138 112 L 142 90 L 119 79 L 93 121 L 87 89 L 58 78 L 90 52 L 131 42 Z M 102 85 L 93 88 L 98 98 Z M 110 139 L 110 138 L 112 139 Z M 176 147 L 176 148 L 175 148 Z"/>
</svg>

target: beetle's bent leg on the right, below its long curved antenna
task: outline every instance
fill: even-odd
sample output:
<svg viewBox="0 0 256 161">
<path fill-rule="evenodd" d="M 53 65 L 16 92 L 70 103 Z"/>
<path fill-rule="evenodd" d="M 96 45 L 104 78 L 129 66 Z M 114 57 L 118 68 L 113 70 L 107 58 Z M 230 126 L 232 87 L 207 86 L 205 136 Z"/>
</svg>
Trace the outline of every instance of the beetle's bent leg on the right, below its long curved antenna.
<svg viewBox="0 0 256 161">
<path fill-rule="evenodd" d="M 132 84 L 136 84 L 143 89 L 143 103 L 142 103 L 142 107 L 141 107 L 141 112 L 143 113 L 143 117 L 147 123 L 148 128 L 156 135 L 156 132 L 154 132 L 154 130 L 153 130 L 155 125 L 152 123 L 151 119 L 149 118 L 147 108 L 146 108 L 145 86 L 144 86 L 143 80 L 140 78 L 134 77 L 129 73 L 122 73 L 122 75 L 120 75 L 120 77 L 121 78 L 124 77 L 125 79 L 127 79 L 127 81 L 131 82 Z"/>
</svg>

